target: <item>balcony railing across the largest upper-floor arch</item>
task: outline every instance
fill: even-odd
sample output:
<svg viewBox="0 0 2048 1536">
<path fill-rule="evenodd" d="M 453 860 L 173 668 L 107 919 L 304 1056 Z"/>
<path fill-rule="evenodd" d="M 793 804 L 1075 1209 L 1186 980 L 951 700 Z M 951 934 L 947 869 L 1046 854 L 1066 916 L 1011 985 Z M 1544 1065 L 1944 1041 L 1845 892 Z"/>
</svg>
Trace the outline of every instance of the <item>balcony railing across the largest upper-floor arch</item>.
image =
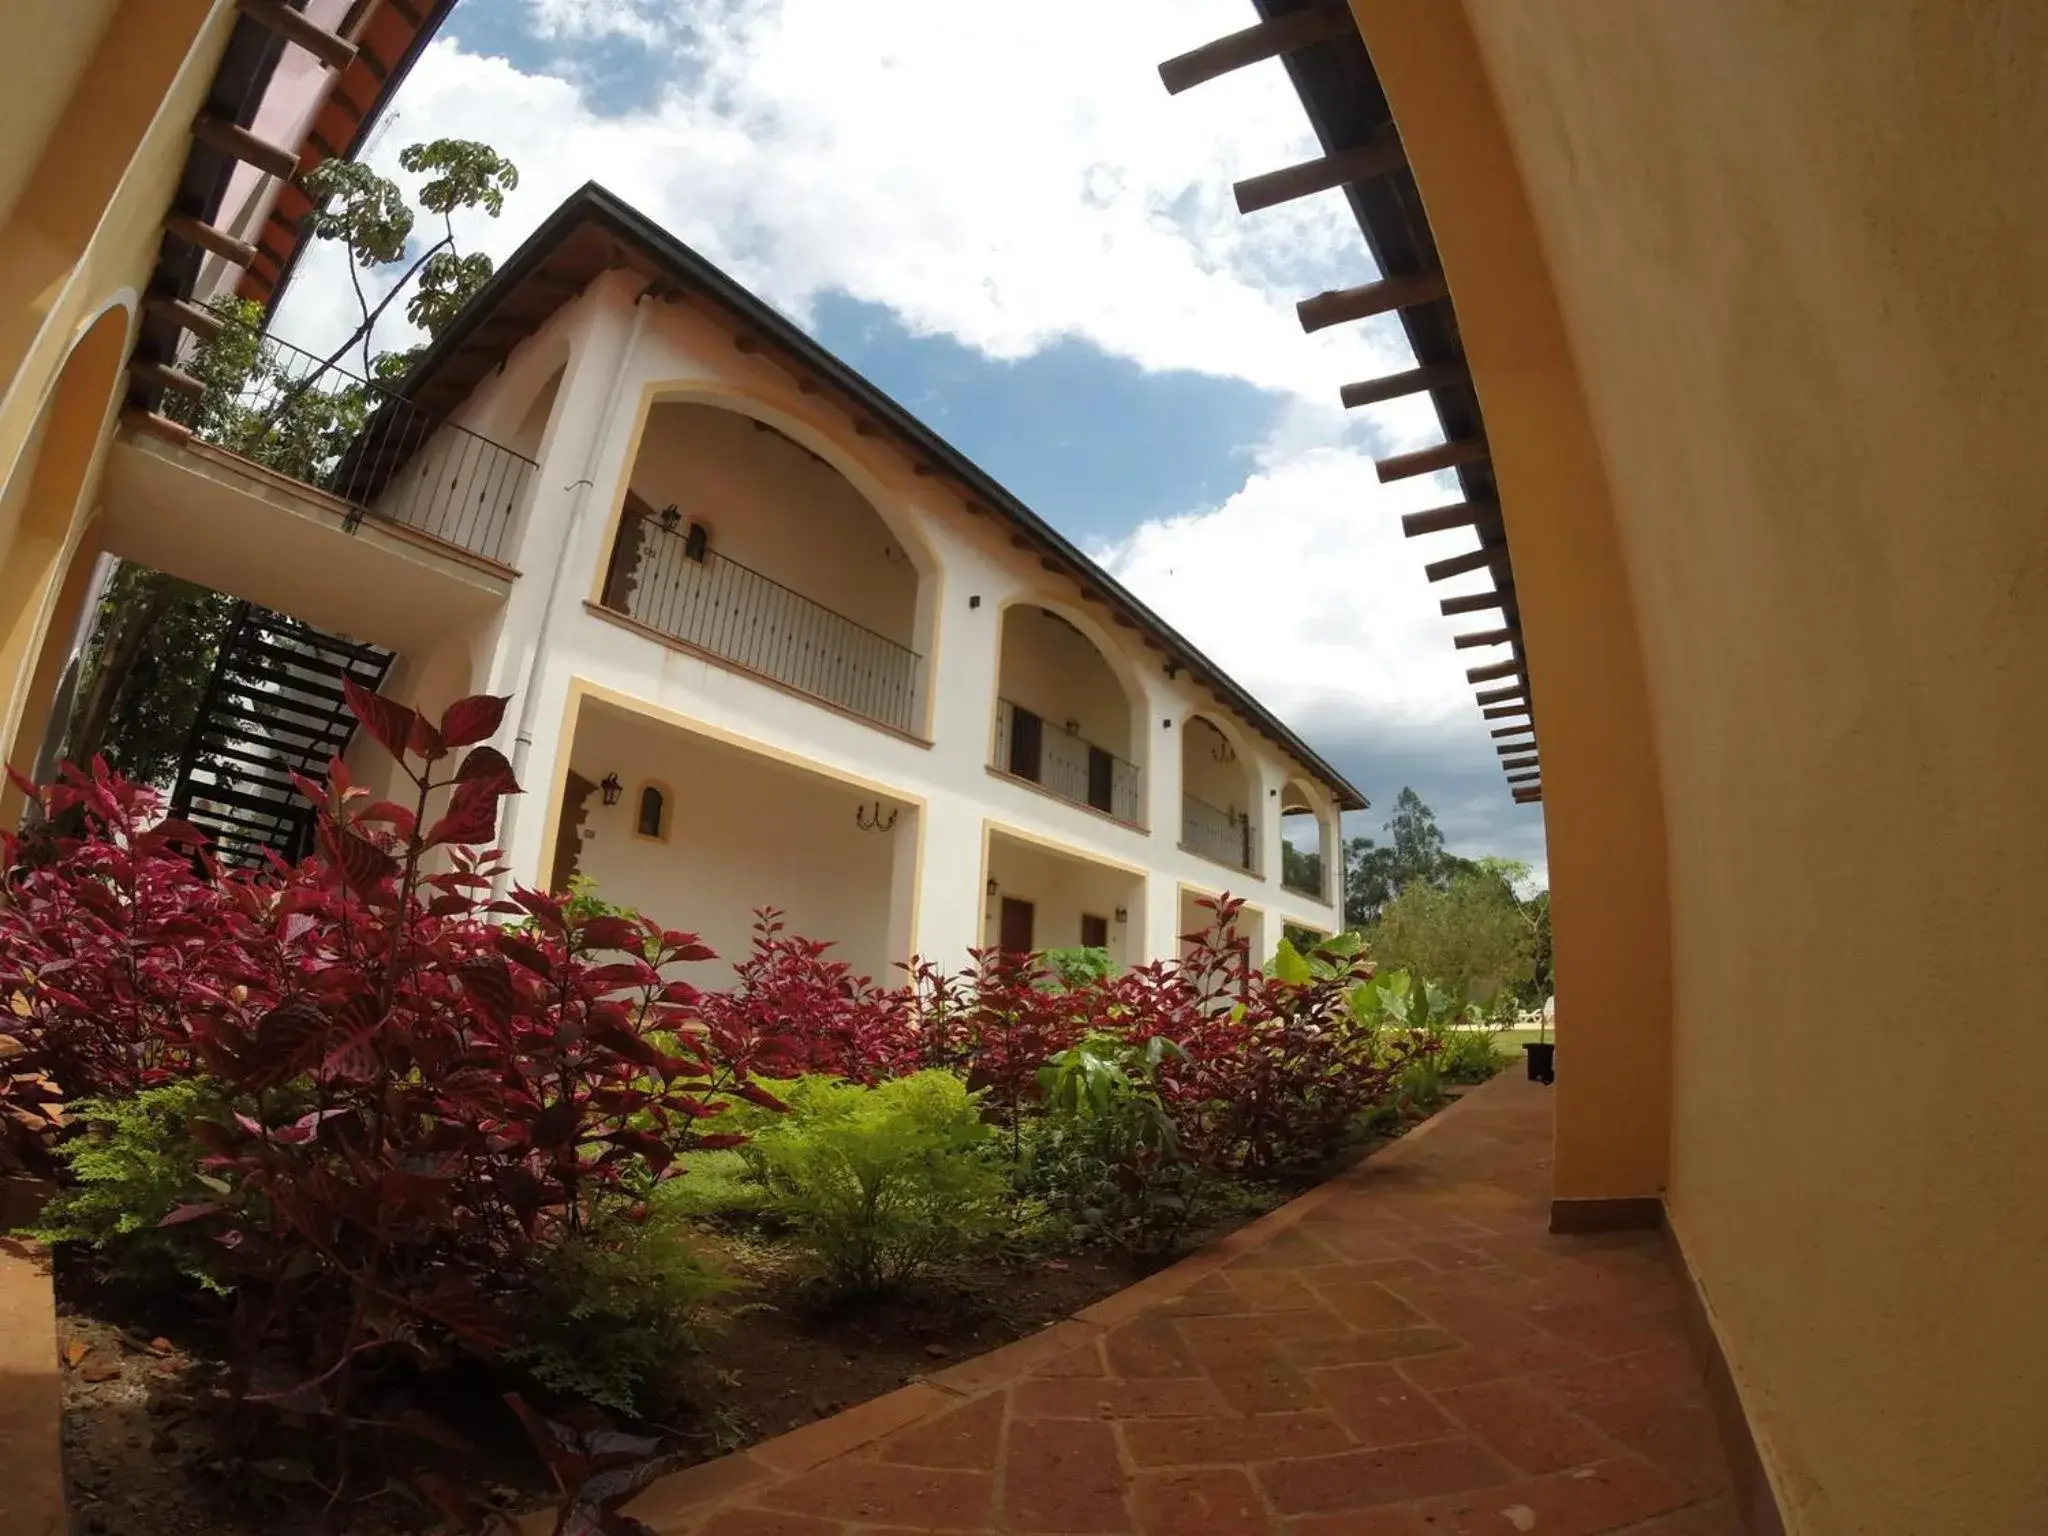
<svg viewBox="0 0 2048 1536">
<path fill-rule="evenodd" d="M 897 731 L 922 723 L 918 651 L 631 508 L 618 520 L 604 606 Z"/>
</svg>

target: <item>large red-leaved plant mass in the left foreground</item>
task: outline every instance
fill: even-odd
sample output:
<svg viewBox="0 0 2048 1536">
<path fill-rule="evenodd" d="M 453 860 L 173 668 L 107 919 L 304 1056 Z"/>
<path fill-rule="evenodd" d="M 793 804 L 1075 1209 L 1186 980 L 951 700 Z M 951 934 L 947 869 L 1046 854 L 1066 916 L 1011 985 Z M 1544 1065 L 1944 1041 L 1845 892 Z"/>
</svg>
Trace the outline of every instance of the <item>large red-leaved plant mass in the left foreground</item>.
<svg viewBox="0 0 2048 1536">
<path fill-rule="evenodd" d="M 340 760 L 301 780 L 317 856 L 223 872 L 94 764 L 41 795 L 84 836 L 0 907 L 10 1038 L 61 1094 L 219 1085 L 229 1110 L 195 1128 L 213 1198 L 166 1225 L 205 1223 L 219 1247 L 250 1397 L 332 1417 L 336 1505 L 350 1427 L 379 1425 L 352 1391 L 367 1360 L 508 1343 L 537 1243 L 678 1149 L 737 1141 L 715 1128 L 731 1098 L 778 1108 L 752 1081 L 756 1038 L 670 975 L 709 958 L 692 934 L 492 899 L 498 803 L 518 793 L 479 745 L 502 698 L 438 723 L 352 684 L 348 705 L 410 795 L 371 801 Z M 492 922 L 508 915 L 530 922 Z"/>
</svg>

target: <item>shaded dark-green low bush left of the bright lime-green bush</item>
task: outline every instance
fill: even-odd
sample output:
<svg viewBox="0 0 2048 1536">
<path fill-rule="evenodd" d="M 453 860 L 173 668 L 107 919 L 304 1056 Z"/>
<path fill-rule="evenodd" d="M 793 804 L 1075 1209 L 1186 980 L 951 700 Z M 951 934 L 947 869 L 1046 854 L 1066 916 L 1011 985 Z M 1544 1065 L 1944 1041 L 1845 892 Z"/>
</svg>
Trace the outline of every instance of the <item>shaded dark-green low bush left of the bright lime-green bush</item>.
<svg viewBox="0 0 2048 1536">
<path fill-rule="evenodd" d="M 532 1280 L 508 1360 L 543 1386 L 629 1415 L 666 1407 L 676 1362 L 702 1341 L 705 1309 L 733 1288 L 668 1219 L 565 1233 L 535 1260 Z"/>
</svg>

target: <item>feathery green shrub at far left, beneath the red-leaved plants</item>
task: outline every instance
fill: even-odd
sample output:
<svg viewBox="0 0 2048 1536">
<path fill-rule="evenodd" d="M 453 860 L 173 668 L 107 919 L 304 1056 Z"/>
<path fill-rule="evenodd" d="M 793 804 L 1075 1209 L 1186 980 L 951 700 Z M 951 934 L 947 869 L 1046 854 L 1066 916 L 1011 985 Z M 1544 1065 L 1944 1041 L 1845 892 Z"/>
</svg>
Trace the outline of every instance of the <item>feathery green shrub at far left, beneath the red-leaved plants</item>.
<svg viewBox="0 0 2048 1536">
<path fill-rule="evenodd" d="M 145 1087 L 133 1098 L 82 1100 L 72 1120 L 86 1135 L 61 1143 L 72 1184 L 43 1208 L 29 1233 L 43 1243 L 84 1243 L 104 1253 L 129 1280 L 147 1286 L 197 1282 L 225 1290 L 207 1266 L 207 1239 L 190 1227 L 162 1227 L 172 1210 L 217 1192 L 193 1137 L 193 1120 L 225 1110 L 205 1077 Z"/>
</svg>

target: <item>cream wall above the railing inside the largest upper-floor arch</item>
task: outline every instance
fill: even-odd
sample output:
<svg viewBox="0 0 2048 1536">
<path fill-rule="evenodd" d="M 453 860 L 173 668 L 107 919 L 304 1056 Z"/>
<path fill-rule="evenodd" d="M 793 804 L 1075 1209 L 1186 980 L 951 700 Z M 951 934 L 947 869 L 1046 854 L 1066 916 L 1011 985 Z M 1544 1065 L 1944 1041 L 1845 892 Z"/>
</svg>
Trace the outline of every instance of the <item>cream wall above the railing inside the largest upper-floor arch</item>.
<svg viewBox="0 0 2048 1536">
<path fill-rule="evenodd" d="M 874 633 L 920 649 L 918 569 L 860 494 L 795 442 L 750 416 L 696 403 L 647 414 L 633 489 L 686 528 L 711 528 L 711 551 L 780 582 Z"/>
</svg>

